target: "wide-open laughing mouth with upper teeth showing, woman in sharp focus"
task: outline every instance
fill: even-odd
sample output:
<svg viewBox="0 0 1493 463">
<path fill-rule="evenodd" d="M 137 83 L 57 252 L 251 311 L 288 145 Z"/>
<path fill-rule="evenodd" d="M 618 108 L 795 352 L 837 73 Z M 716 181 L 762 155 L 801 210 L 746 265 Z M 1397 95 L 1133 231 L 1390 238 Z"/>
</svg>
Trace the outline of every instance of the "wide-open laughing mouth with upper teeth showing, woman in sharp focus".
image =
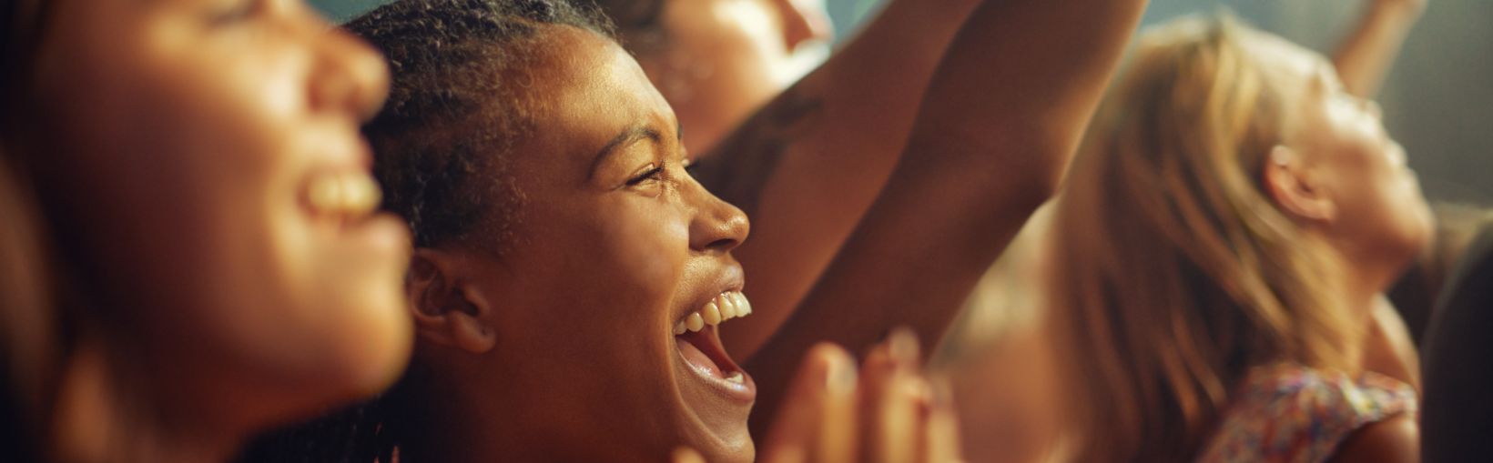
<svg viewBox="0 0 1493 463">
<path fill-rule="evenodd" d="M 679 318 L 673 326 L 673 338 L 679 355 L 696 375 L 730 396 L 752 400 L 757 396 L 757 385 L 726 354 L 717 330 L 721 323 L 746 315 L 751 315 L 751 302 L 746 296 L 741 291 L 726 291 Z"/>
</svg>

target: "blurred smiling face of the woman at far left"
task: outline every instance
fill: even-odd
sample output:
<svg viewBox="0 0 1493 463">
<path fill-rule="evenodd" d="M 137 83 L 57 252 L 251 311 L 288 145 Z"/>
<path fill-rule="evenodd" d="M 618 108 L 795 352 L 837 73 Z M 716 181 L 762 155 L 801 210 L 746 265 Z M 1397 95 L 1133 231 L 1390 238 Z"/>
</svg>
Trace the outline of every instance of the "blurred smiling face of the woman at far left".
<svg viewBox="0 0 1493 463">
<path fill-rule="evenodd" d="M 408 232 L 373 214 L 358 134 L 387 91 L 379 57 L 296 0 L 52 7 L 37 184 L 103 285 L 87 303 L 116 333 L 106 355 L 163 414 L 240 420 L 211 426 L 396 378 Z"/>
</svg>

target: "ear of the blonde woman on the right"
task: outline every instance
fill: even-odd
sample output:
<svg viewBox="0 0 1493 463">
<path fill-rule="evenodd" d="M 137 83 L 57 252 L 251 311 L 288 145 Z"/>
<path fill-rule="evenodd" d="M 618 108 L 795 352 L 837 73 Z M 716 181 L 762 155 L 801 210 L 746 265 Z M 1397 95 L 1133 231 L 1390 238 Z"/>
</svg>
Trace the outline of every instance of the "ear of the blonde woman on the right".
<svg viewBox="0 0 1493 463">
<path fill-rule="evenodd" d="M 1332 223 L 1338 209 L 1327 193 L 1317 185 L 1300 154 L 1277 145 L 1265 163 L 1265 191 L 1287 215 L 1314 223 Z"/>
</svg>

